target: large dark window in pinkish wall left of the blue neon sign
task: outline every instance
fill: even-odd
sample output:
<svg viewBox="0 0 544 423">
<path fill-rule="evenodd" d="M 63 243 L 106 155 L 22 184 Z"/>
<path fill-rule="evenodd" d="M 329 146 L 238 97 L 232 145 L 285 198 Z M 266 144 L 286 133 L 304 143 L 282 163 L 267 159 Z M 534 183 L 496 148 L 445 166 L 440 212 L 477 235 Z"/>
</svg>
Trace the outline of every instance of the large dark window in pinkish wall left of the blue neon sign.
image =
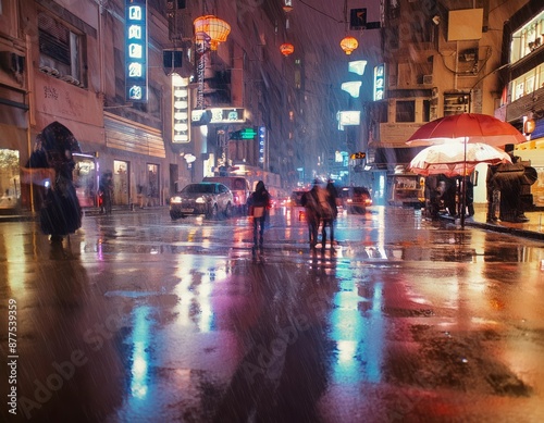
<svg viewBox="0 0 544 423">
<path fill-rule="evenodd" d="M 40 70 L 82 85 L 82 35 L 47 13 L 38 14 Z"/>
</svg>

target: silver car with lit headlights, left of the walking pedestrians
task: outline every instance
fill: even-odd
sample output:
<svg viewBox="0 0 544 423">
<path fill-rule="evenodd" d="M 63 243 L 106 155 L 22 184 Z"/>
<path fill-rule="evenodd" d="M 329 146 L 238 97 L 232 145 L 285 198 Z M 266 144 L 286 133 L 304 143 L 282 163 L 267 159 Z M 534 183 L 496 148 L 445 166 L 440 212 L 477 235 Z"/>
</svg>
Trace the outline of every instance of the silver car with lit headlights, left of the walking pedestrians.
<svg viewBox="0 0 544 423">
<path fill-rule="evenodd" d="M 189 214 L 205 214 L 215 219 L 220 213 L 228 217 L 232 214 L 233 201 L 232 191 L 223 184 L 188 184 L 170 199 L 170 217 L 176 220 Z"/>
</svg>

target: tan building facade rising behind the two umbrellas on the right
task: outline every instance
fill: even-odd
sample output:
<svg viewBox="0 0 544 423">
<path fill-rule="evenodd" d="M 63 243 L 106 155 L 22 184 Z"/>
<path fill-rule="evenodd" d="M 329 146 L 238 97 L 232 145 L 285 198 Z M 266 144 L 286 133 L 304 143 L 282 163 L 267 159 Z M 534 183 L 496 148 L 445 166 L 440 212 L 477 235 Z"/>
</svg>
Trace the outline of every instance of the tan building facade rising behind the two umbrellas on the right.
<svg viewBox="0 0 544 423">
<path fill-rule="evenodd" d="M 535 53 L 531 65 L 510 64 L 509 51 L 515 46 L 511 41 L 517 38 L 508 33 L 522 30 L 530 22 L 540 22 L 542 7 L 527 0 L 385 0 L 382 3 L 381 70 L 385 90 L 371 104 L 368 115 L 368 145 L 363 147 L 368 148 L 369 173 L 364 181 L 374 185 L 374 192 L 380 192 L 376 203 L 396 203 L 395 174 L 404 177 L 406 166 L 419 151 L 405 142 L 424 123 L 471 112 L 496 115 L 522 130 L 520 115 L 500 110 L 510 110 L 510 105 L 505 105 L 509 101 L 506 92 L 512 90 L 510 79 L 522 77 L 521 69 L 531 72 L 529 67 L 539 67 L 542 58 Z M 533 36 L 533 42 L 535 39 Z M 411 177 L 406 183 L 411 188 L 407 196 L 417 198 L 421 181 Z M 401 185 L 407 191 L 406 184 Z M 474 200 L 485 202 L 485 184 L 475 187 Z"/>
</svg>

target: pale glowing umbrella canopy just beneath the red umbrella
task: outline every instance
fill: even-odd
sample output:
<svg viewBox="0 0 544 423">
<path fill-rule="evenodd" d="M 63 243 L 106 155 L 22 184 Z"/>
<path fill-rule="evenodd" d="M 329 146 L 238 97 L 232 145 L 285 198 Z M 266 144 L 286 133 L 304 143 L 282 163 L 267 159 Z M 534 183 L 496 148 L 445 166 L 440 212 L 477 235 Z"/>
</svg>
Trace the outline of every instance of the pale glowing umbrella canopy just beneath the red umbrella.
<svg viewBox="0 0 544 423">
<path fill-rule="evenodd" d="M 426 147 L 410 162 L 411 172 L 419 175 L 448 177 L 470 175 L 479 163 L 511 163 L 510 155 L 486 144 L 448 142 Z"/>
</svg>

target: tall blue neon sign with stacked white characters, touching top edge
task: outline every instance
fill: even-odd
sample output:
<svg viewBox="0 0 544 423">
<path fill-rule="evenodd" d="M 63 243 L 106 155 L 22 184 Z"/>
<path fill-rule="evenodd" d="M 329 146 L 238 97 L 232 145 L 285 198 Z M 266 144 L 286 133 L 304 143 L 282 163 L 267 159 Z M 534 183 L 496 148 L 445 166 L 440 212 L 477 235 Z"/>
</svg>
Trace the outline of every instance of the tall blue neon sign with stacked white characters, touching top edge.
<svg viewBox="0 0 544 423">
<path fill-rule="evenodd" d="M 147 1 L 125 3 L 125 98 L 147 101 Z"/>
</svg>

